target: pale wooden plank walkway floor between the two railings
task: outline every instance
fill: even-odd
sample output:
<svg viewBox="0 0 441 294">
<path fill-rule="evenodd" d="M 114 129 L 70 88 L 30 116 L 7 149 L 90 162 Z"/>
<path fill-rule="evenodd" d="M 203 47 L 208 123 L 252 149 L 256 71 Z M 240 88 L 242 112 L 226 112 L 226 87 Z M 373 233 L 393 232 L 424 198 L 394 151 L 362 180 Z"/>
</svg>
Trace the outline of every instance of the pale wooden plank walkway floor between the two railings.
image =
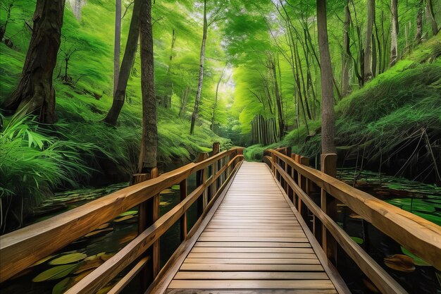
<svg viewBox="0 0 441 294">
<path fill-rule="evenodd" d="M 244 162 L 166 293 L 345 292 L 287 200 L 265 164 Z"/>
</svg>

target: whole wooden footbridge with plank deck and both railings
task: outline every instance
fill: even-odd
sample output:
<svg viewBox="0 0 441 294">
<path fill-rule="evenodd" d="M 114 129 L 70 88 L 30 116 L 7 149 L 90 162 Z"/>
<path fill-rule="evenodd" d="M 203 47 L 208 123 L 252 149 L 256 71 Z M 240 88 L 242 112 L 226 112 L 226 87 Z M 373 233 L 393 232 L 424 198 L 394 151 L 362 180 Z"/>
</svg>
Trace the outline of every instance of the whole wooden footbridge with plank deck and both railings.
<svg viewBox="0 0 441 294">
<path fill-rule="evenodd" d="M 96 293 L 120 273 L 108 293 L 135 277 L 141 293 L 350 293 L 333 266 L 339 246 L 382 293 L 406 293 L 337 225 L 337 202 L 441 270 L 440 226 L 336 180 L 335 154 L 317 171 L 287 148 L 267 150 L 265 163 L 242 152 L 213 145 L 210 157 L 2 236 L 0 281 L 137 205 L 137 238 L 66 293 Z M 176 184 L 181 202 L 160 216 L 159 192 Z M 198 219 L 187 232 L 192 204 Z M 181 244 L 161 267 L 159 238 L 177 222 Z"/>
</svg>

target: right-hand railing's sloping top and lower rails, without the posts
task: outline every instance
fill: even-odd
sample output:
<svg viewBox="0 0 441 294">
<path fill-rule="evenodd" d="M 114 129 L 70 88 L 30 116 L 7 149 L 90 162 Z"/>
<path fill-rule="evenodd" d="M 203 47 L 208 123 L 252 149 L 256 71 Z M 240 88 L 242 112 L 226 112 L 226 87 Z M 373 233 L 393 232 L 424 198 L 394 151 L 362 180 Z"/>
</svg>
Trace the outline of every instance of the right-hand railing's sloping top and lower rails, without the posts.
<svg viewBox="0 0 441 294">
<path fill-rule="evenodd" d="M 432 264 L 436 269 L 441 269 L 440 226 L 399 209 L 392 204 L 378 200 L 372 195 L 353 188 L 332 176 L 296 162 L 291 157 L 276 150 L 268 149 L 266 153 L 271 154 L 271 157 L 267 156 L 266 159 L 271 163 L 271 170 L 275 174 L 275 178 L 280 179 L 280 181 L 283 180 L 287 184 L 285 186 L 287 193 L 289 187 L 299 197 L 297 207 L 301 207 L 302 204 L 306 205 L 313 215 L 321 221 L 326 230 L 334 236 L 335 240 L 339 241 L 349 257 L 354 259 L 354 262 L 383 293 L 405 293 L 405 290 L 344 233 L 340 226 L 325 213 L 325 208 L 319 207 L 311 200 L 307 193 L 309 184 L 304 183 L 305 178 L 322 189 L 322 196 L 324 191 L 325 196 L 332 196 L 340 200 L 356 214 L 372 223 L 373 226 L 389 235 L 406 249 Z M 297 171 L 299 175 L 297 179 L 293 178 L 292 172 L 287 172 L 288 167 L 291 171 Z M 324 243 L 323 247 L 325 247 Z"/>
</svg>

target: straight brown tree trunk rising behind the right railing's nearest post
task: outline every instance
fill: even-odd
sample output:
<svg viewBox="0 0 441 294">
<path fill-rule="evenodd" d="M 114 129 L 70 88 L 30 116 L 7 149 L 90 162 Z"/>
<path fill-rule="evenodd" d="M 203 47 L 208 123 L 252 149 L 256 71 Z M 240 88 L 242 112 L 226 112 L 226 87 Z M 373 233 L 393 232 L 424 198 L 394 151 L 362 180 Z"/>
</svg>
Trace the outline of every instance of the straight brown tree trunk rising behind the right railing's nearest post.
<svg viewBox="0 0 441 294">
<path fill-rule="evenodd" d="M 317 31 L 321 63 L 321 152 L 328 154 L 335 153 L 336 149 L 334 142 L 333 68 L 329 54 L 325 0 L 317 0 Z"/>
</svg>

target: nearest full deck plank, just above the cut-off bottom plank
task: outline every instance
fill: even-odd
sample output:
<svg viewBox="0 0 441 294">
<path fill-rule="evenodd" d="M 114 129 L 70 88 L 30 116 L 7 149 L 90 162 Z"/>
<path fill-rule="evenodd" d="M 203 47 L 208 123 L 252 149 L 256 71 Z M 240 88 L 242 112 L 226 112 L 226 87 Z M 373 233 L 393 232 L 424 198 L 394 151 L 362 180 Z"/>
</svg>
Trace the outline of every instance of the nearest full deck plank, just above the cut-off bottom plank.
<svg viewBox="0 0 441 294">
<path fill-rule="evenodd" d="M 173 280 L 168 286 L 170 289 L 333 289 L 334 285 L 329 280 Z"/>
</svg>

